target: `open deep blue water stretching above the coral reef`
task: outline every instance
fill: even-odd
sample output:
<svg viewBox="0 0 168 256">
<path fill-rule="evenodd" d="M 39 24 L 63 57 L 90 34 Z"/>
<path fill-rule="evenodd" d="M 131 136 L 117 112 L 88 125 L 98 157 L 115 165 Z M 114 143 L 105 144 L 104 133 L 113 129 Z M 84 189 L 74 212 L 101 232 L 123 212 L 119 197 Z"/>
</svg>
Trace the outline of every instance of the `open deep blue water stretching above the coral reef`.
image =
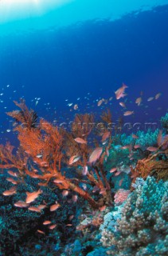
<svg viewBox="0 0 168 256">
<path fill-rule="evenodd" d="M 1 16 L 1 137 L 10 138 L 5 112 L 14 110 L 13 100 L 21 97 L 50 121 L 107 108 L 116 119 L 123 109 L 114 92 L 122 82 L 128 86 L 127 110 L 135 111 L 125 122 L 158 122 L 168 108 L 168 2 L 143 7 L 139 2 L 121 5 L 120 13 L 112 1 L 97 1 L 97 6 L 91 1 L 90 8 L 88 1 L 70 1 L 58 9 L 43 6 L 38 15 L 27 11 L 20 17 L 10 10 Z M 157 93 L 162 93 L 157 101 L 147 102 Z M 111 102 L 97 107 L 100 98 L 111 96 Z"/>
</svg>

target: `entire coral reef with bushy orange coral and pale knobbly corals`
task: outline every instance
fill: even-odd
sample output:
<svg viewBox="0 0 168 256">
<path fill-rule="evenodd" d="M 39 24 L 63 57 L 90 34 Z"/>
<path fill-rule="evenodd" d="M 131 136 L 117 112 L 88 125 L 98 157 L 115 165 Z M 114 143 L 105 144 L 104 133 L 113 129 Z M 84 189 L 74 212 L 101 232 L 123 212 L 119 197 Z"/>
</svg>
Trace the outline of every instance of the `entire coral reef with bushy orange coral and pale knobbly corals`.
<svg viewBox="0 0 168 256">
<path fill-rule="evenodd" d="M 0 145 L 0 254 L 168 254 L 165 130 L 121 134 L 119 118 L 113 135 L 109 110 L 100 129 L 76 114 L 64 130 L 14 103 L 19 146 Z"/>
</svg>

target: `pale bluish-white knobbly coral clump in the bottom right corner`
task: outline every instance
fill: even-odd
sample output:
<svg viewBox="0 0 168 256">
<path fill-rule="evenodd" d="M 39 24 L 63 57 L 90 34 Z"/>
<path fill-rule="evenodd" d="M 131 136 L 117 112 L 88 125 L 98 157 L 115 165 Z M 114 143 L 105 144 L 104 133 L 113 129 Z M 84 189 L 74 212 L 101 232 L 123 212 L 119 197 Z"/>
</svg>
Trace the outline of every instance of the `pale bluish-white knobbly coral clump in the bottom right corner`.
<svg viewBox="0 0 168 256">
<path fill-rule="evenodd" d="M 115 229 L 104 229 L 101 241 L 111 255 L 166 255 L 168 182 L 154 178 L 137 186 L 122 206 Z M 158 240 L 159 237 L 159 240 Z"/>
</svg>

